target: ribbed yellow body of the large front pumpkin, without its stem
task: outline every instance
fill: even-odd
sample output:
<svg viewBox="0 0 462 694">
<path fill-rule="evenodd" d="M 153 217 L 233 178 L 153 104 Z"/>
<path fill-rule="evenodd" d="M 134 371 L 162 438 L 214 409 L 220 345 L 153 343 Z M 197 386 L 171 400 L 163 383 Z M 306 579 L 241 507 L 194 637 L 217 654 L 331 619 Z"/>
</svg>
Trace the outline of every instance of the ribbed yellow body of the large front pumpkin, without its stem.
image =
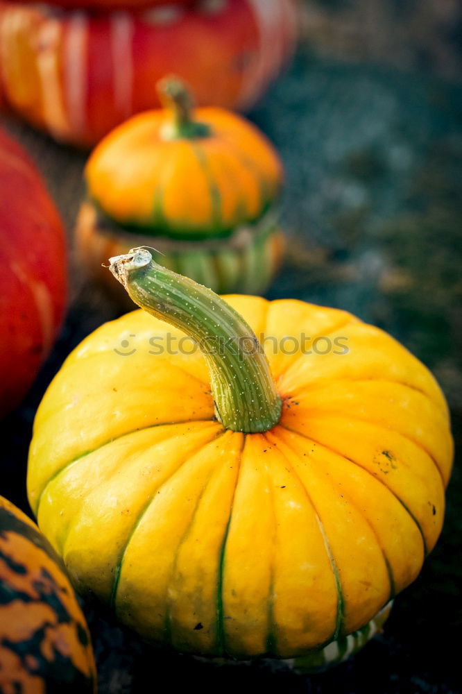
<svg viewBox="0 0 462 694">
<path fill-rule="evenodd" d="M 76 586 L 143 636 L 293 657 L 365 625 L 418 575 L 443 523 L 447 407 L 418 359 L 348 313 L 226 301 L 264 342 L 275 428 L 224 430 L 200 352 L 134 312 L 51 384 L 28 493 Z M 288 335 L 303 344 L 275 350 Z"/>
</svg>

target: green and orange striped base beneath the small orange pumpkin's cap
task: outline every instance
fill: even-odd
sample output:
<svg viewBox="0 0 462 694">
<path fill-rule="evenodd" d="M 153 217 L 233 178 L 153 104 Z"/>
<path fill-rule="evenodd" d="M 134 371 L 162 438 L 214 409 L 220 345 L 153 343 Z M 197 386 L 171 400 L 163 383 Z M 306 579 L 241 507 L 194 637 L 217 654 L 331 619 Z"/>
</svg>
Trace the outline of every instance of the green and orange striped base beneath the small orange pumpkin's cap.
<svg viewBox="0 0 462 694">
<path fill-rule="evenodd" d="M 155 262 L 219 294 L 262 294 L 275 276 L 283 245 L 273 211 L 258 223 L 235 230 L 230 237 L 196 242 L 127 232 L 103 219 L 89 202 L 81 205 L 76 224 L 78 257 L 113 293 L 121 287 L 101 264 L 131 248 L 146 246 Z"/>
</svg>

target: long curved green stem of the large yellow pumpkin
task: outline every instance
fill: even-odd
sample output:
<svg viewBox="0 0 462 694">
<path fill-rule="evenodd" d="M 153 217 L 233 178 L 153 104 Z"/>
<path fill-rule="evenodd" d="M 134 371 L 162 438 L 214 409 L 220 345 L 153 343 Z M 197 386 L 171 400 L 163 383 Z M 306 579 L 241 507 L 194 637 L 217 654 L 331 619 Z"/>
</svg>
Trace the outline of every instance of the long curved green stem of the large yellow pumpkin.
<svg viewBox="0 0 462 694">
<path fill-rule="evenodd" d="M 268 360 L 237 311 L 212 289 L 158 265 L 142 248 L 110 258 L 110 271 L 132 301 L 196 341 L 225 428 L 251 434 L 277 424 L 282 402 Z"/>
</svg>

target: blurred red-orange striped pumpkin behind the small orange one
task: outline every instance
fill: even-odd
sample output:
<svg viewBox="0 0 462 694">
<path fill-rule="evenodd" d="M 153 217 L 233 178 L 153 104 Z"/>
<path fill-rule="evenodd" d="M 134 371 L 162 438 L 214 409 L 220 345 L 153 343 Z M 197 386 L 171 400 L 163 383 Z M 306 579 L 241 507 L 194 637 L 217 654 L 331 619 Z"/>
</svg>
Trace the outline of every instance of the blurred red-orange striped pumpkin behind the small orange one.
<svg viewBox="0 0 462 694">
<path fill-rule="evenodd" d="M 295 0 L 201 0 L 189 9 L 96 15 L 5 2 L 0 82 L 10 107 L 33 125 L 91 146 L 157 107 L 155 85 L 172 72 L 198 105 L 247 108 L 295 36 Z"/>
</svg>

